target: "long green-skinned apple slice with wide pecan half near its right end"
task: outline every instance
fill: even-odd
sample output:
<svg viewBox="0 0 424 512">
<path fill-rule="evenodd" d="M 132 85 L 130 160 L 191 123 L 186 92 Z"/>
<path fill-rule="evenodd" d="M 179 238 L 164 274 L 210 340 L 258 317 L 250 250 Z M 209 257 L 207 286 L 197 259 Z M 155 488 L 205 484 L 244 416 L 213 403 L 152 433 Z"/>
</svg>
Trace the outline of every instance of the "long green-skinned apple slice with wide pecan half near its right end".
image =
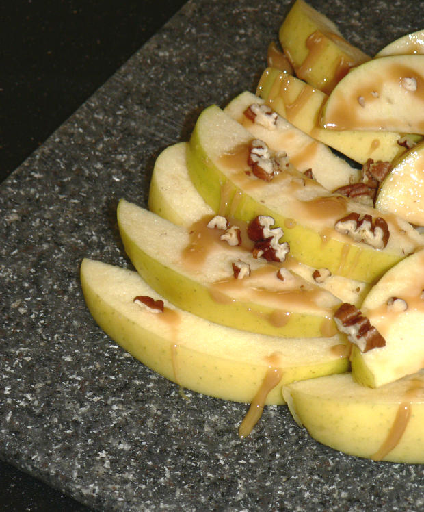
<svg viewBox="0 0 424 512">
<path fill-rule="evenodd" d="M 408 222 L 331 194 L 300 172 L 287 169 L 272 181 L 247 175 L 250 167 L 243 151 L 251 140 L 252 135 L 218 107 L 200 114 L 187 166 L 191 181 L 215 212 L 246 222 L 256 215 L 271 216 L 297 261 L 366 283 L 422 246 L 423 239 Z M 338 233 L 336 221 L 349 212 L 383 216 L 390 231 L 386 248 L 374 249 Z"/>
</svg>

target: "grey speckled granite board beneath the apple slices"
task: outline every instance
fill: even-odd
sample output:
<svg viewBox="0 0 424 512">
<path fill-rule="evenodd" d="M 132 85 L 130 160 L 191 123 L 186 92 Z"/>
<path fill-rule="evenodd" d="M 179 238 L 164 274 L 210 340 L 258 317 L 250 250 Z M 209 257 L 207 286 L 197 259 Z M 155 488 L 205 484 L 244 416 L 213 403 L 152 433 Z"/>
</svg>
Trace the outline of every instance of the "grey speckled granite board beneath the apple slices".
<svg viewBox="0 0 424 512">
<path fill-rule="evenodd" d="M 370 53 L 422 28 L 424 2 L 310 3 Z M 183 399 L 83 303 L 84 256 L 129 266 L 118 199 L 145 205 L 159 151 L 254 89 L 287 8 L 256 4 L 187 3 L 1 185 L 0 457 L 102 510 L 419 510 L 422 466 L 341 455 L 284 407 L 241 441 L 245 405 Z"/>
</svg>

